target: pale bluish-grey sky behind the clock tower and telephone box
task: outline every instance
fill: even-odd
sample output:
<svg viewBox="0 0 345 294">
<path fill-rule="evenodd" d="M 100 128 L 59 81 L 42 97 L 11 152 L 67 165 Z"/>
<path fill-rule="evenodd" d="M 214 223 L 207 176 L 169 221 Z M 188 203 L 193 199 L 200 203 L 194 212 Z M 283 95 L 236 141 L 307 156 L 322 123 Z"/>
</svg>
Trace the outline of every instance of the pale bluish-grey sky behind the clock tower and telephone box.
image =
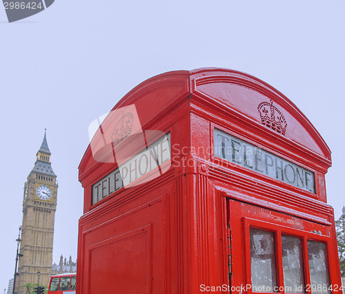
<svg viewBox="0 0 345 294">
<path fill-rule="evenodd" d="M 83 207 L 77 167 L 88 125 L 132 87 L 170 70 L 239 70 L 290 98 L 331 148 L 327 196 L 339 218 L 344 14 L 344 1 L 335 0 L 56 0 L 46 11 L 7 23 L 0 9 L 0 286 L 7 289 L 13 277 L 23 183 L 44 129 L 59 180 L 53 258 L 75 260 Z"/>
</svg>

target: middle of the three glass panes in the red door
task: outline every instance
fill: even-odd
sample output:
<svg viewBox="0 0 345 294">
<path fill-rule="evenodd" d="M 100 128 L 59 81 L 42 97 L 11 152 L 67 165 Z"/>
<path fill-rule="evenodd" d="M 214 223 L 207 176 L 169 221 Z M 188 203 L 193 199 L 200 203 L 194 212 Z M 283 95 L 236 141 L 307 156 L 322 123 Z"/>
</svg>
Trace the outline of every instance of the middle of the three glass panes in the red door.
<svg viewBox="0 0 345 294">
<path fill-rule="evenodd" d="M 302 240 L 282 235 L 285 293 L 304 293 Z"/>
</svg>

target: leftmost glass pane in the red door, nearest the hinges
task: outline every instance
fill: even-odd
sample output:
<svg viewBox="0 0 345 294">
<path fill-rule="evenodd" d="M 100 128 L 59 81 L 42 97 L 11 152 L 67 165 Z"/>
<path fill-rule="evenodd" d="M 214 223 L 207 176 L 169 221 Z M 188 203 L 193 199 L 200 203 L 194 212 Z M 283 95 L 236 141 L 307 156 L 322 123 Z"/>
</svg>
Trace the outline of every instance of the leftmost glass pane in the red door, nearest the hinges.
<svg viewBox="0 0 345 294">
<path fill-rule="evenodd" d="M 277 286 L 274 233 L 250 228 L 250 271 L 253 292 L 273 292 Z"/>
</svg>

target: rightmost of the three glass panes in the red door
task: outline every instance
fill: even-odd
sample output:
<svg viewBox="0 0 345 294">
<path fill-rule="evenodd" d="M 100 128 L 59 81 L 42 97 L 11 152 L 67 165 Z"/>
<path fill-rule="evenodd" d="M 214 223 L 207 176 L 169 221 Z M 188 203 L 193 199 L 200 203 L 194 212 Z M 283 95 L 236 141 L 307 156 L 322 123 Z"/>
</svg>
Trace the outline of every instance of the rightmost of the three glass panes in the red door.
<svg viewBox="0 0 345 294">
<path fill-rule="evenodd" d="M 308 259 L 311 273 L 311 293 L 331 293 L 328 290 L 329 276 L 326 244 L 308 240 Z"/>
</svg>

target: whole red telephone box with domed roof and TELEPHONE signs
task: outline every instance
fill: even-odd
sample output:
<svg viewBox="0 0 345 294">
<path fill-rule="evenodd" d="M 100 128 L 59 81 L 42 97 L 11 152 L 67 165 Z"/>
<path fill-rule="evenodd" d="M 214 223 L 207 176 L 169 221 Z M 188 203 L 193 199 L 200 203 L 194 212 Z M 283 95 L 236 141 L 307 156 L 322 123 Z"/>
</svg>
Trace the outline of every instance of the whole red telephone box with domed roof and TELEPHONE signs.
<svg viewBox="0 0 345 294">
<path fill-rule="evenodd" d="M 253 76 L 144 81 L 79 166 L 77 293 L 342 293 L 328 167 L 309 120 Z"/>
</svg>

